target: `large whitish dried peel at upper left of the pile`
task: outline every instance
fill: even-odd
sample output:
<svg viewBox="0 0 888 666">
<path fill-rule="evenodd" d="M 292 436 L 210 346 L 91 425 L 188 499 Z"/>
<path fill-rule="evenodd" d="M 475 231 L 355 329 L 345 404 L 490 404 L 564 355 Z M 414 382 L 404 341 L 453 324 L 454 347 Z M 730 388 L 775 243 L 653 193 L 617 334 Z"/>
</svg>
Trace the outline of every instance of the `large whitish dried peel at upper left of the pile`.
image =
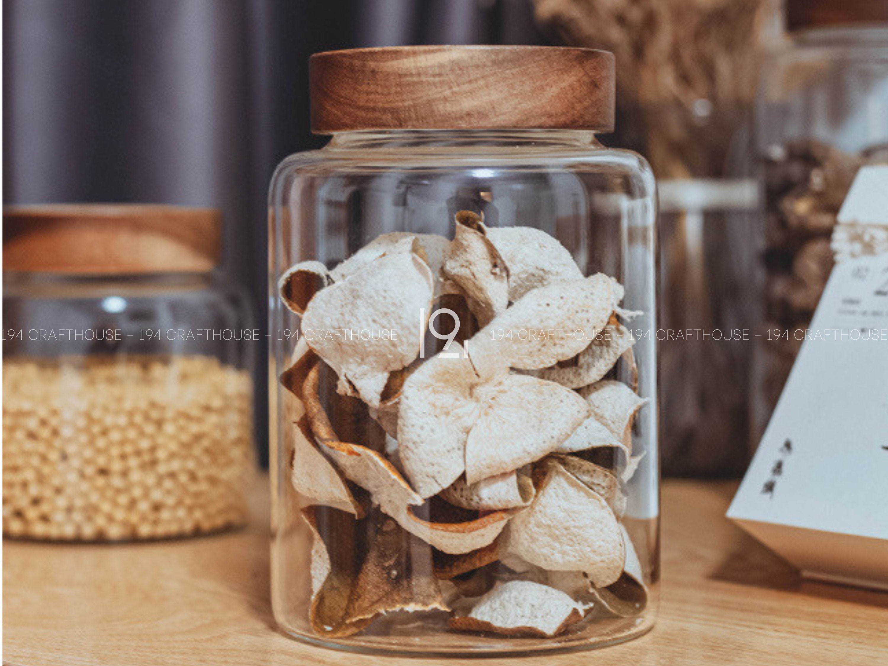
<svg viewBox="0 0 888 666">
<path fill-rule="evenodd" d="M 353 388 L 371 407 L 379 405 L 389 373 L 416 359 L 424 335 L 419 315 L 429 312 L 433 279 L 414 245 L 415 239 L 405 238 L 390 253 L 321 289 L 302 317 L 303 337 L 337 370 L 340 392 Z"/>
</svg>

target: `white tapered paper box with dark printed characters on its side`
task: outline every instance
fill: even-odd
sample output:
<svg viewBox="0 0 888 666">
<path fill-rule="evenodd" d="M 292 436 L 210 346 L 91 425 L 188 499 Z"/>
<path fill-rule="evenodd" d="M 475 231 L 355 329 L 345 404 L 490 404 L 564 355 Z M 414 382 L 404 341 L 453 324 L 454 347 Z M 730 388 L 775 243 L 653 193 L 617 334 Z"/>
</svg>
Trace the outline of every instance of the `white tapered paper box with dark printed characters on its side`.
<svg viewBox="0 0 888 666">
<path fill-rule="evenodd" d="M 806 575 L 888 588 L 888 255 L 833 270 L 728 517 Z"/>
</svg>

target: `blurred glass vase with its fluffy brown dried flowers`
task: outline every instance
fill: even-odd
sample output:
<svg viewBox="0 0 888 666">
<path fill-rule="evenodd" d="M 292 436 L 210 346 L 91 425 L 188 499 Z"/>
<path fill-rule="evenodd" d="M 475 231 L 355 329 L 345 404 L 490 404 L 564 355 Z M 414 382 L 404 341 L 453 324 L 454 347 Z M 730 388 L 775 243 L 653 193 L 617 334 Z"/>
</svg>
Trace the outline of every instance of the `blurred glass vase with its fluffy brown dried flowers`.
<svg viewBox="0 0 888 666">
<path fill-rule="evenodd" d="M 779 3 L 534 3 L 552 36 L 614 52 L 612 140 L 645 155 L 657 178 L 662 472 L 739 476 L 757 297 L 749 121 Z"/>
</svg>

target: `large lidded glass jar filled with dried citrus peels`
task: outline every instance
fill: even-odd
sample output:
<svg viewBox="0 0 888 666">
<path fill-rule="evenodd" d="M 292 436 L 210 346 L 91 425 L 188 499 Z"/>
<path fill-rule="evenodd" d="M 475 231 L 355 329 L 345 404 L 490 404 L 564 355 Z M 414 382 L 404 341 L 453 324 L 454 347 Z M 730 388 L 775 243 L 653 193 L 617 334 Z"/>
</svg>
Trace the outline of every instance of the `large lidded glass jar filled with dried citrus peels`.
<svg viewBox="0 0 888 666">
<path fill-rule="evenodd" d="M 654 178 L 607 52 L 311 60 L 270 190 L 274 616 L 324 646 L 524 654 L 654 622 Z"/>
</svg>

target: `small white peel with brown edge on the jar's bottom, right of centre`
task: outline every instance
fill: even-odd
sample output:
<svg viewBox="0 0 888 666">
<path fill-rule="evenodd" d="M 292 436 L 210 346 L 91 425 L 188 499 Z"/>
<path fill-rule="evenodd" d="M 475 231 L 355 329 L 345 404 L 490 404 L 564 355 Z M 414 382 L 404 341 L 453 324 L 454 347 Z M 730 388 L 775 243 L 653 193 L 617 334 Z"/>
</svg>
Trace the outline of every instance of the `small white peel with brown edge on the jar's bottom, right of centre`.
<svg viewBox="0 0 888 666">
<path fill-rule="evenodd" d="M 451 618 L 450 627 L 507 636 L 551 637 L 581 620 L 585 608 L 548 585 L 509 581 L 481 597 L 468 615 Z"/>
</svg>

